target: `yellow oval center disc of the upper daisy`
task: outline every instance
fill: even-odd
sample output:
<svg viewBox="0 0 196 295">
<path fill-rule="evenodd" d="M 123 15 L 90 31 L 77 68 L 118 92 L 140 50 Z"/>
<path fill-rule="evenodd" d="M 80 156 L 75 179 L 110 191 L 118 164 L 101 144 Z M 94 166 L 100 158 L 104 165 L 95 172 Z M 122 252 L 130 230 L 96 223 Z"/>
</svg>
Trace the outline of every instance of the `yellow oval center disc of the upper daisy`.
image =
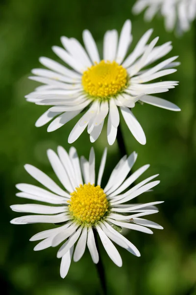
<svg viewBox="0 0 196 295">
<path fill-rule="evenodd" d="M 82 85 L 91 96 L 108 98 L 121 92 L 127 84 L 127 72 L 116 61 L 101 60 L 83 73 Z"/>
</svg>

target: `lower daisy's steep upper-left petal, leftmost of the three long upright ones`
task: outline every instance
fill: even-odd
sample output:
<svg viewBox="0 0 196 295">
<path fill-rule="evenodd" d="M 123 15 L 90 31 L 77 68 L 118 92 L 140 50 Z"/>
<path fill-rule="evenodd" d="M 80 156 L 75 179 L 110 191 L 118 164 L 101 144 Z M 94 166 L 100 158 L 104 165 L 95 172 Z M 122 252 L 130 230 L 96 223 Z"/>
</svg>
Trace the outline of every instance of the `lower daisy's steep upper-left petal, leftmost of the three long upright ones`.
<svg viewBox="0 0 196 295">
<path fill-rule="evenodd" d="M 56 174 L 60 182 L 64 185 L 67 191 L 73 192 L 74 188 L 72 183 L 70 182 L 68 173 L 65 170 L 57 154 L 52 149 L 48 149 L 47 155 L 49 158 L 49 162 L 54 170 L 54 173 Z"/>
</svg>

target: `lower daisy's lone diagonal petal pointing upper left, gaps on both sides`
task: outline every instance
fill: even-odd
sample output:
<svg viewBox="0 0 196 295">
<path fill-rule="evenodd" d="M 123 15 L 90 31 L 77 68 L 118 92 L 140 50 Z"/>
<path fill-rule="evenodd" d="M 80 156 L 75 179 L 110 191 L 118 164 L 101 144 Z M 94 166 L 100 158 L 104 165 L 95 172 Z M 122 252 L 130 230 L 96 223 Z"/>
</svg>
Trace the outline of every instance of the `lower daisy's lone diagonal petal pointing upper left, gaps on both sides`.
<svg viewBox="0 0 196 295">
<path fill-rule="evenodd" d="M 33 178 L 39 181 L 41 184 L 49 188 L 54 193 L 60 196 L 67 196 L 67 193 L 63 191 L 48 175 L 46 175 L 41 170 L 37 169 L 36 167 L 26 164 L 25 170 L 30 174 Z"/>
</svg>

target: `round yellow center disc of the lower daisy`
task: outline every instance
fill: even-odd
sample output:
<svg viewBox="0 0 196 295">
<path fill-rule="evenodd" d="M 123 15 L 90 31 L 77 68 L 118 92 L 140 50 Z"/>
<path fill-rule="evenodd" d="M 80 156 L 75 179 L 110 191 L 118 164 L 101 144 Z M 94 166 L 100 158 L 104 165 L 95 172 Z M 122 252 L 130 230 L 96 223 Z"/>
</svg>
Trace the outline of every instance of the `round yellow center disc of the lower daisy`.
<svg viewBox="0 0 196 295">
<path fill-rule="evenodd" d="M 70 213 L 80 223 L 93 224 L 108 211 L 106 195 L 99 185 L 80 184 L 70 195 Z"/>
</svg>

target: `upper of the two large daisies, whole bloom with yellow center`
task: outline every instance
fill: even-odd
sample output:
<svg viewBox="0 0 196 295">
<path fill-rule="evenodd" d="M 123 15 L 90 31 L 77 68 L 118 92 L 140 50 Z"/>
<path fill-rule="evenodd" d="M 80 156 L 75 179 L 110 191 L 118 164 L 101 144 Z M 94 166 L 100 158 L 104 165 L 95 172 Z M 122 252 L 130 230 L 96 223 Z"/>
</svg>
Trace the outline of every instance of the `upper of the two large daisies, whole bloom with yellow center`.
<svg viewBox="0 0 196 295">
<path fill-rule="evenodd" d="M 120 123 L 120 110 L 133 136 L 145 145 L 144 131 L 131 112 L 137 101 L 180 111 L 173 103 L 151 95 L 166 92 L 177 85 L 177 81 L 147 82 L 174 73 L 176 69 L 173 67 L 179 64 L 174 62 L 175 56 L 149 66 L 172 50 L 171 42 L 156 46 L 158 37 L 147 45 L 151 33 L 152 29 L 149 29 L 126 57 L 132 42 L 131 22 L 127 20 L 124 23 L 119 38 L 116 29 L 106 31 L 102 59 L 90 31 L 83 32 L 86 50 L 76 39 L 61 37 L 64 49 L 54 46 L 52 50 L 71 69 L 42 57 L 40 62 L 48 69 L 33 69 L 34 76 L 29 77 L 45 85 L 27 95 L 27 101 L 52 106 L 35 125 L 39 127 L 52 120 L 48 127 L 48 132 L 51 132 L 83 111 L 68 142 L 73 143 L 87 128 L 93 143 L 108 117 L 107 140 L 112 145 Z"/>
</svg>

